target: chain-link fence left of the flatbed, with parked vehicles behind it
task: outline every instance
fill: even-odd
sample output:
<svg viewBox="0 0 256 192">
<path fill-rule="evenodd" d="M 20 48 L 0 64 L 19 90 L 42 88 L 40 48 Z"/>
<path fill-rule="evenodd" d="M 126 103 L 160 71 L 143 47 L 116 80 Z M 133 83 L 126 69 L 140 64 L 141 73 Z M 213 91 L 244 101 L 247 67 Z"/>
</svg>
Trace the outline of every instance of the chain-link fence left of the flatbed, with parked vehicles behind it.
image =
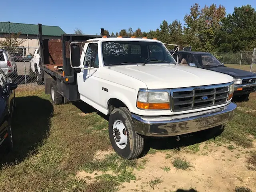
<svg viewBox="0 0 256 192">
<path fill-rule="evenodd" d="M 19 87 L 43 84 L 39 62 L 36 47 L 0 47 L 0 68 Z"/>
</svg>

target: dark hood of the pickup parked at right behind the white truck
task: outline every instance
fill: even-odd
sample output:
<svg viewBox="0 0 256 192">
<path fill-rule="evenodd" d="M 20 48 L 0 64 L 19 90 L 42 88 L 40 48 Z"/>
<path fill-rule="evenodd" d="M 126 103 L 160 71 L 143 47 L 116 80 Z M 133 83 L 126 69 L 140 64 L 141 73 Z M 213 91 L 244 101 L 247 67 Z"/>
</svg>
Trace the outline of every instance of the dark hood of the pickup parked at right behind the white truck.
<svg viewBox="0 0 256 192">
<path fill-rule="evenodd" d="M 224 74 L 228 74 L 235 78 L 256 76 L 256 73 L 252 73 L 252 72 L 244 71 L 244 70 L 240 70 L 240 69 L 229 68 L 229 67 L 214 67 L 214 68 L 206 68 L 206 69 L 224 73 Z"/>
</svg>

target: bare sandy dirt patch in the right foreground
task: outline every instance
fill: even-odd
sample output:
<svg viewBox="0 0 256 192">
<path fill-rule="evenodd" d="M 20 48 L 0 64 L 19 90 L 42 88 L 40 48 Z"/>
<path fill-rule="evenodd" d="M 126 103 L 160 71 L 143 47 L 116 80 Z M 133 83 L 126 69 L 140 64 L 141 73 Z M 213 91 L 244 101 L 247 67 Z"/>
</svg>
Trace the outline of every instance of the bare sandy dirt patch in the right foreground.
<svg viewBox="0 0 256 192">
<path fill-rule="evenodd" d="M 123 183 L 125 188 L 121 188 L 121 191 L 151 191 L 152 182 L 157 179 L 160 182 L 156 182 L 154 191 L 193 188 L 198 192 L 231 192 L 236 186 L 247 186 L 252 191 L 256 190 L 256 172 L 249 171 L 246 167 L 246 157 L 249 156 L 246 149 L 229 150 L 225 146 L 215 145 L 207 145 L 207 148 L 203 148 L 209 153 L 202 154 L 200 151 L 195 154 L 181 151 L 146 155 L 144 158 L 148 161 L 145 168 L 135 169 L 133 172 L 136 175 L 135 183 Z M 176 156 L 185 157 L 193 168 L 186 171 L 174 168 L 172 160 Z"/>
</svg>

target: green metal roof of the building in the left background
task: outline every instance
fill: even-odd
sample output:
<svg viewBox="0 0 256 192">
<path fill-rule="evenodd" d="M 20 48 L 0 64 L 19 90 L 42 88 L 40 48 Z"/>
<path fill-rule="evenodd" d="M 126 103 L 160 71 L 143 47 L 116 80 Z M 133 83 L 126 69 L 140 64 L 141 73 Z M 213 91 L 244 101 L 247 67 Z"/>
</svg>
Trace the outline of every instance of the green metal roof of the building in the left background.
<svg viewBox="0 0 256 192">
<path fill-rule="evenodd" d="M 8 22 L 0 22 L 0 34 L 9 34 L 9 32 L 20 32 L 24 35 L 36 35 L 38 34 L 38 25 L 10 22 L 9 26 Z M 42 25 L 42 34 L 43 36 L 61 36 L 66 33 L 59 26 Z"/>
</svg>

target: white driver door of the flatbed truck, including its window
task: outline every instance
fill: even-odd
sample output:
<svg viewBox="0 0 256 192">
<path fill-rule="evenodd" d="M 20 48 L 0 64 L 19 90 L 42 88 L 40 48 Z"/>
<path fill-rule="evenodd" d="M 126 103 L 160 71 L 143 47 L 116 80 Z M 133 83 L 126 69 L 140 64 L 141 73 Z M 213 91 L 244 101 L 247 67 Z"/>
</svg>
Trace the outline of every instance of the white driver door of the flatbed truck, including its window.
<svg viewBox="0 0 256 192">
<path fill-rule="evenodd" d="M 84 58 L 81 57 L 80 60 L 82 69 L 77 74 L 78 92 L 82 101 L 98 109 L 95 105 L 100 103 L 98 44 L 88 43 L 87 47 L 84 46 L 84 51 Z"/>
</svg>

